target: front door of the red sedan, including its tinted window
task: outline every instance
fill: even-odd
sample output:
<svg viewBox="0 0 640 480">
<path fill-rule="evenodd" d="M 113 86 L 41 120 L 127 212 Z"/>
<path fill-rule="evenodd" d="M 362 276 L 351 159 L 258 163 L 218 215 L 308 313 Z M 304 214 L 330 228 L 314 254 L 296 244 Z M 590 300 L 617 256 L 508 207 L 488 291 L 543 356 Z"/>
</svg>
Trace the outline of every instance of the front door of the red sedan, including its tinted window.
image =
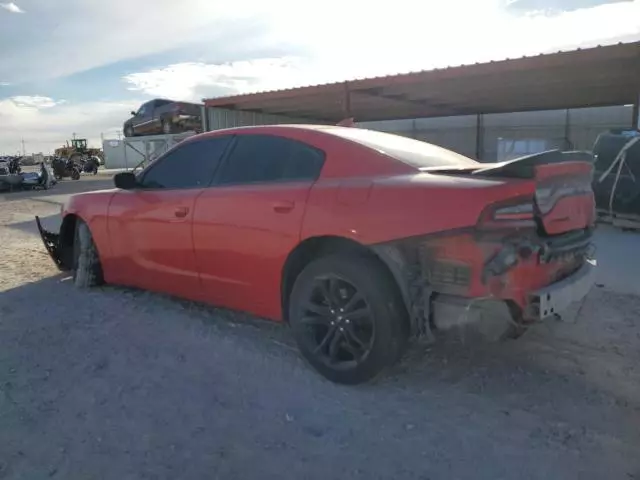
<svg viewBox="0 0 640 480">
<path fill-rule="evenodd" d="M 230 141 L 181 142 L 140 174 L 138 188 L 115 194 L 109 206 L 114 283 L 200 299 L 194 206 Z"/>
</svg>

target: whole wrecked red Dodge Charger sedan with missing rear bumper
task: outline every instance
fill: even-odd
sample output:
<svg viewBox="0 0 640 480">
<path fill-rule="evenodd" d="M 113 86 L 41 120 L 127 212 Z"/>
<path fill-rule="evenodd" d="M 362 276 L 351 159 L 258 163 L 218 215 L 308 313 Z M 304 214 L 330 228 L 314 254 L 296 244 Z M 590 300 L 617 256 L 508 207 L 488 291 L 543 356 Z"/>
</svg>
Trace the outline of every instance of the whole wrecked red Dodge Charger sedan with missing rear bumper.
<svg viewBox="0 0 640 480">
<path fill-rule="evenodd" d="M 72 196 L 58 233 L 36 221 L 77 286 L 287 322 L 316 370 L 355 384 L 410 339 L 517 336 L 581 300 L 595 265 L 591 176 L 586 152 L 486 164 L 360 128 L 244 127 Z"/>
</svg>

